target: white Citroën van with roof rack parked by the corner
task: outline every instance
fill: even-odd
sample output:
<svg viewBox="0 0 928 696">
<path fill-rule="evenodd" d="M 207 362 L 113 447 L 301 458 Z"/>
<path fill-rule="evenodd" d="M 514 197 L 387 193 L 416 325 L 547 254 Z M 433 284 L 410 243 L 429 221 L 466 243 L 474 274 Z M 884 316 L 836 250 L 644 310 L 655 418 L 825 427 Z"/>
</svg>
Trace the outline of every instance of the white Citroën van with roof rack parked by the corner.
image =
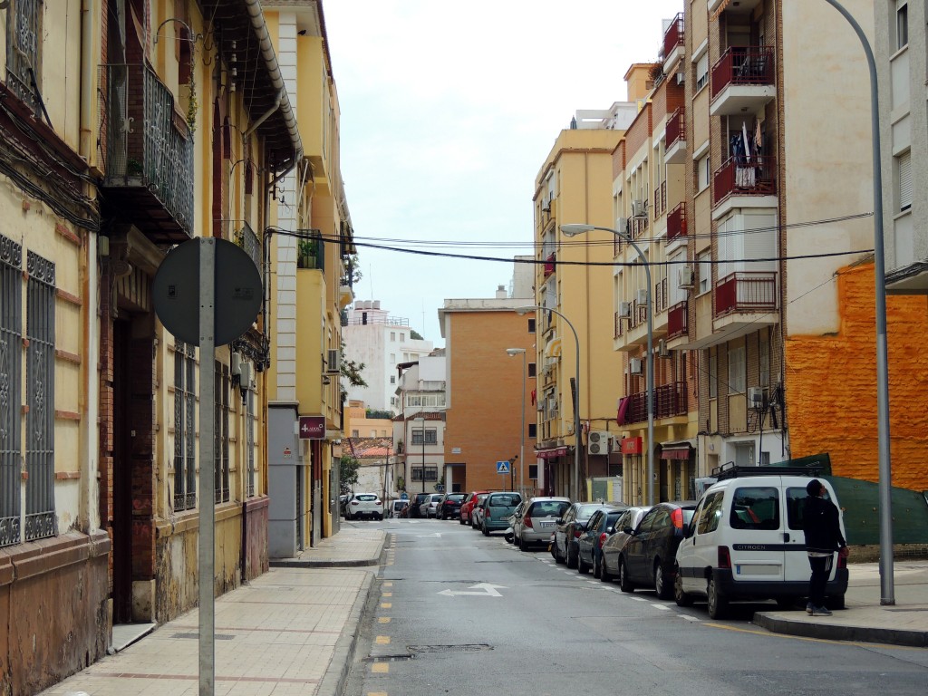
<svg viewBox="0 0 928 696">
<path fill-rule="evenodd" d="M 705 597 L 709 616 L 723 618 L 732 599 L 776 599 L 791 607 L 808 596 L 809 569 L 803 508 L 809 475 L 767 467 L 727 470 L 706 489 L 677 548 L 674 596 L 681 607 Z M 819 479 L 837 505 L 834 489 Z M 840 516 L 839 516 L 840 517 Z M 841 518 L 844 534 L 844 519 Z M 827 604 L 844 609 L 847 561 L 838 558 Z"/>
</svg>

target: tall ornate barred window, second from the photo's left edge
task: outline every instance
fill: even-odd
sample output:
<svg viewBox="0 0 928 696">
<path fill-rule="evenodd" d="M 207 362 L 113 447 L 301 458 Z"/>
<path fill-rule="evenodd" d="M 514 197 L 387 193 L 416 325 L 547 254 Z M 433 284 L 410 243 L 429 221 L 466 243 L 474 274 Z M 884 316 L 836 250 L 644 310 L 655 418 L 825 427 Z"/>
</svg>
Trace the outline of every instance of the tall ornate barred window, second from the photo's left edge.
<svg viewBox="0 0 928 696">
<path fill-rule="evenodd" d="M 55 264 L 30 251 L 26 298 L 25 539 L 58 534 L 55 515 Z"/>
</svg>

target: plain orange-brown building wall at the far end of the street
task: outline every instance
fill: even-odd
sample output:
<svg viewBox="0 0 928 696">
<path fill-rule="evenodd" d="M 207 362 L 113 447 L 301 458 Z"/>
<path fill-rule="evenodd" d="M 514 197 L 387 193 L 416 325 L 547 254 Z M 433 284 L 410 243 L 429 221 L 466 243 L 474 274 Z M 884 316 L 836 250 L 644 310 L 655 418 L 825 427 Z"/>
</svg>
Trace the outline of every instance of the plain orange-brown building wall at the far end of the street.
<svg viewBox="0 0 928 696">
<path fill-rule="evenodd" d="M 531 316 L 514 312 L 459 312 L 451 315 L 451 407 L 445 416 L 445 462 L 465 463 L 468 491 L 509 488 L 509 477 L 496 473 L 496 461 L 519 454 L 522 427 L 522 356 L 509 357 L 507 348 L 525 348 L 526 366 L 535 361 L 535 334 L 528 332 Z M 527 373 L 526 367 L 526 373 Z M 535 422 L 531 392 L 535 378 L 525 379 L 525 462 L 535 463 L 535 438 L 527 435 Z M 460 447 L 461 454 L 451 454 Z M 456 481 L 460 476 L 455 473 Z M 519 485 L 519 463 L 515 465 Z"/>
</svg>

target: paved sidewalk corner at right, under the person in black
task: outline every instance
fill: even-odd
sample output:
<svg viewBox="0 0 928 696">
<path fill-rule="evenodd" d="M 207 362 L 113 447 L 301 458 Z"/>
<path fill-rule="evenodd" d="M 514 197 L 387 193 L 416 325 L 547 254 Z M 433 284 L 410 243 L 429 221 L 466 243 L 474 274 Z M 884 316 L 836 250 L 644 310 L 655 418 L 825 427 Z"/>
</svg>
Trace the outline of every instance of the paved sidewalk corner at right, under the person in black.
<svg viewBox="0 0 928 696">
<path fill-rule="evenodd" d="M 896 604 L 880 604 L 879 563 L 851 563 L 844 611 L 757 612 L 754 624 L 773 633 L 928 648 L 928 561 L 896 561 Z"/>
</svg>

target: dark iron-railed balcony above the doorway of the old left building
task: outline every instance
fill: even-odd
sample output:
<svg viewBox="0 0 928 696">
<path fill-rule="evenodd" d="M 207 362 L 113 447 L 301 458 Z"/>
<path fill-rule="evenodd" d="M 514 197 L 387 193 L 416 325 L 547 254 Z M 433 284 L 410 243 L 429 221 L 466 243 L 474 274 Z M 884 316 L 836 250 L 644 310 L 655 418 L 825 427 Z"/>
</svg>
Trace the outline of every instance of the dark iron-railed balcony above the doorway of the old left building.
<svg viewBox="0 0 928 696">
<path fill-rule="evenodd" d="M 100 66 L 100 145 L 107 202 L 156 244 L 193 231 L 193 138 L 146 65 Z"/>
</svg>

